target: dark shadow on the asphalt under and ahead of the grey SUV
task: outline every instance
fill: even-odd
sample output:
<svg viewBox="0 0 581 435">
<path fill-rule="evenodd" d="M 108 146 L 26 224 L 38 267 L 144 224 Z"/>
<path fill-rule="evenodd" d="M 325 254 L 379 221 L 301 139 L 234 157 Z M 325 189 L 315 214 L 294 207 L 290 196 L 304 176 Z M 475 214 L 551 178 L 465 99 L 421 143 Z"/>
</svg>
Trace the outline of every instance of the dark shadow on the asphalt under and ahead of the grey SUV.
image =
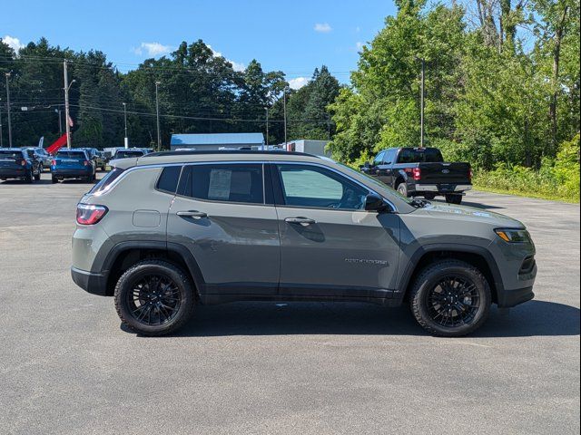
<svg viewBox="0 0 581 435">
<path fill-rule="evenodd" d="M 407 307 L 349 303 L 232 303 L 198 306 L 177 336 L 385 334 L 427 335 Z M 472 336 L 524 337 L 578 335 L 579 309 L 530 301 L 500 314 L 492 308 L 487 323 Z"/>
</svg>

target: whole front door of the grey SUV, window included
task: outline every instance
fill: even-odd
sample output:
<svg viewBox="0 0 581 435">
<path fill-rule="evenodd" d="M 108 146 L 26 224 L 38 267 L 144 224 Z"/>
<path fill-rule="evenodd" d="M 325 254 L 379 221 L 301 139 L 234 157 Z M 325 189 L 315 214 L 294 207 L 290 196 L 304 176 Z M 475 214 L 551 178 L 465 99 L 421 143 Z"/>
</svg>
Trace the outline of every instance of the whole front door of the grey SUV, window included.
<svg viewBox="0 0 581 435">
<path fill-rule="evenodd" d="M 281 295 L 358 297 L 395 287 L 397 215 L 362 210 L 369 189 L 319 165 L 274 165 L 274 173 Z M 321 198 L 329 207 L 320 207 Z"/>
</svg>

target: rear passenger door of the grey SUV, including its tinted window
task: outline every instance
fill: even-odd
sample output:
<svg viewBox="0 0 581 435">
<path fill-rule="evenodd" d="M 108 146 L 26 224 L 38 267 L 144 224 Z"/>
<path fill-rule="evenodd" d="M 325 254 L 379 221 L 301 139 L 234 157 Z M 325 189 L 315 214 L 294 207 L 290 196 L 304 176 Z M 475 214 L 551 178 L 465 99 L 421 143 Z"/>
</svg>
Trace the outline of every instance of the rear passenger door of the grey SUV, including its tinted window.
<svg viewBox="0 0 581 435">
<path fill-rule="evenodd" d="M 210 170 L 202 169 L 210 166 Z M 259 200 L 256 195 L 262 192 L 261 186 L 244 184 L 251 179 L 252 183 L 257 181 L 251 170 L 261 165 L 229 174 L 233 166 L 219 165 L 216 169 L 213 164 L 192 165 L 202 178 L 187 181 L 191 186 L 189 197 L 174 198 L 168 217 L 168 242 L 188 247 L 200 266 L 206 294 L 275 295 L 281 262 L 276 209 L 264 205 L 262 198 L 260 204 L 233 202 Z M 252 165 L 243 166 L 248 169 Z M 182 171 L 182 179 L 186 171 Z M 184 189 L 182 179 L 179 189 Z M 202 195 L 223 200 L 192 198 Z"/>
</svg>

